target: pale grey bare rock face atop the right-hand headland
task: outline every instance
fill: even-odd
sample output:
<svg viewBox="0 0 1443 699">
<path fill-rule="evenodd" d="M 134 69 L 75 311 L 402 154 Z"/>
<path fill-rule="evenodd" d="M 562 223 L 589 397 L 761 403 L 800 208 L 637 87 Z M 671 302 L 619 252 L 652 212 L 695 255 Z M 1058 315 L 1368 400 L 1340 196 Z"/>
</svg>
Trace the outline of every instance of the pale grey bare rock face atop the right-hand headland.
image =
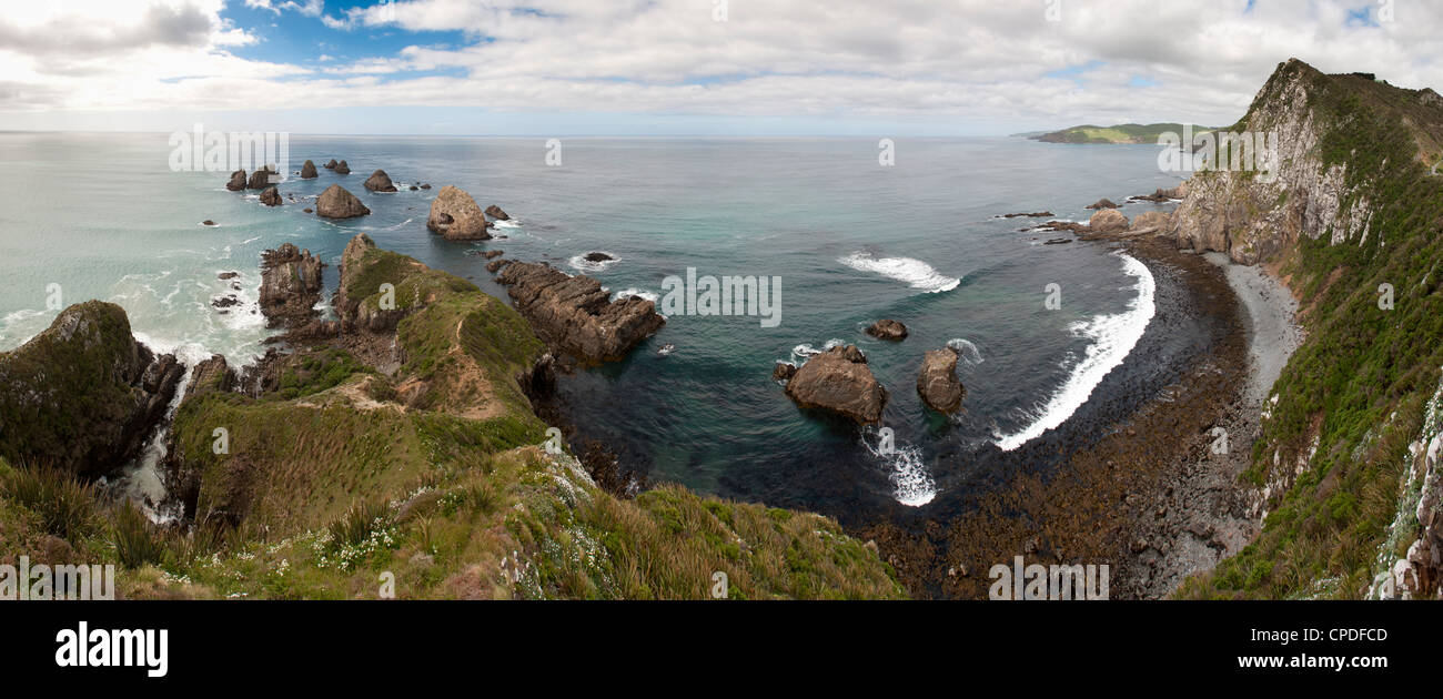
<svg viewBox="0 0 1443 699">
<path fill-rule="evenodd" d="M 1248 114 L 1224 130 L 1267 134 L 1268 146 L 1276 138 L 1276 157 L 1267 167 L 1271 172 L 1254 164 L 1253 170 L 1195 174 L 1172 235 L 1180 246 L 1227 252 L 1241 264 L 1274 258 L 1303 236 L 1326 236 L 1333 245 L 1367 239 L 1375 180 L 1356 159 L 1359 148 L 1342 147 L 1352 135 L 1346 131 L 1369 128 L 1354 118 L 1352 104 L 1400 115 L 1405 128 L 1417 131 L 1424 159 L 1439 150 L 1439 135 L 1429 128 L 1430 121 L 1443 123 L 1436 97 L 1433 91 L 1403 91 L 1358 75 L 1323 75 L 1297 59 L 1278 65 Z M 1355 146 L 1368 144 L 1359 140 Z M 1240 150 L 1240 161 L 1248 150 Z M 1253 148 L 1254 163 L 1267 150 Z M 1215 163 L 1228 167 L 1231 160 L 1227 150 Z"/>
</svg>

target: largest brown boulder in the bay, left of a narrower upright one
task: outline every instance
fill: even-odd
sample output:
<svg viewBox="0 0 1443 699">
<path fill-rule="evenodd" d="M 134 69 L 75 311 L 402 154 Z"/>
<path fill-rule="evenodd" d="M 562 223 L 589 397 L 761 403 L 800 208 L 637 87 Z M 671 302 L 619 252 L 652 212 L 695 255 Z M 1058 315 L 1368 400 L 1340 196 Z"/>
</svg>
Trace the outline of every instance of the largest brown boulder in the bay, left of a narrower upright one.
<svg viewBox="0 0 1443 699">
<path fill-rule="evenodd" d="M 808 359 L 786 382 L 786 395 L 801 408 L 824 409 L 857 424 L 880 421 L 887 404 L 886 389 L 850 344 Z"/>
</svg>

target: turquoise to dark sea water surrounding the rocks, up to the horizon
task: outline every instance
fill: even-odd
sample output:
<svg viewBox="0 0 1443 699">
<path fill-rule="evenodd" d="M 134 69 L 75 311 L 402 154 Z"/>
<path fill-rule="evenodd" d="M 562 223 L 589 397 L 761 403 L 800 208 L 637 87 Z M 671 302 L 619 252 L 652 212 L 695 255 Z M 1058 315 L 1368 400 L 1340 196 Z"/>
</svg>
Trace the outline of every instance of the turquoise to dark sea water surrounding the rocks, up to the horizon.
<svg viewBox="0 0 1443 699">
<path fill-rule="evenodd" d="M 893 167 L 879 166 L 874 138 L 563 138 L 551 167 L 541 138 L 293 137 L 291 170 L 336 157 L 354 173 L 291 179 L 280 190 L 297 202 L 268 209 L 227 192 L 228 169 L 170 172 L 169 153 L 163 134 L 0 134 L 0 349 L 49 324 L 48 288 L 58 284 L 63 304 L 124 306 L 154 349 L 247 362 L 268 334 L 251 313 L 260 252 L 309 248 L 332 264 L 333 287 L 356 232 L 501 297 L 473 252 L 504 249 L 642 294 L 659 294 L 664 277 L 688 267 L 779 277 L 778 327 L 672 316 L 628 360 L 567 376 L 561 391 L 583 435 L 610 444 L 639 476 L 838 516 L 925 513 L 986 480 L 983 464 L 1033 458 L 1017 447 L 1097 402 L 1104 376 L 1118 376 L 1113 369 L 1163 313 L 1166 290 L 1150 285 L 1165 280 L 1146 265 L 1107 245 L 1042 245 L 1068 235 L 1019 232 L 1032 219 L 997 215 L 1085 221 L 1084 206 L 1102 196 L 1176 184 L 1153 147 L 1016 138 L 899 140 Z M 377 167 L 397 184 L 436 189 L 368 193 L 361 183 Z M 374 213 L 328 222 L 302 212 L 336 182 Z M 483 244 L 439 239 L 424 223 L 443 184 L 502 206 L 517 225 Z M 580 264 L 590 251 L 618 259 Z M 216 278 L 222 271 L 241 272 L 241 291 Z M 1043 307 L 1048 284 L 1059 285 L 1061 310 Z M 219 314 L 209 301 L 229 293 L 245 303 Z M 882 343 L 861 331 L 882 317 L 911 337 Z M 867 353 L 890 393 L 885 425 L 898 454 L 876 454 L 874 431 L 802 414 L 769 380 L 775 362 L 828 340 Z M 926 412 L 915 391 L 922 352 L 949 342 L 964 350 L 968 389 L 954 419 Z M 674 349 L 658 352 L 665 344 Z"/>
</svg>

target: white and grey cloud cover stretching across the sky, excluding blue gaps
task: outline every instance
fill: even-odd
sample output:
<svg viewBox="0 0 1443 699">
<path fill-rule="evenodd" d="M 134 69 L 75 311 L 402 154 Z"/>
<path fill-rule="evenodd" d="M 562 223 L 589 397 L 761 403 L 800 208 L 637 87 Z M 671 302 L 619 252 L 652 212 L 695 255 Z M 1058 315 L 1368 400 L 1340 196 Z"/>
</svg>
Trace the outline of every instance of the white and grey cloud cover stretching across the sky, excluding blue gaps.
<svg viewBox="0 0 1443 699">
<path fill-rule="evenodd" d="M 25 92 L 26 84 L 43 82 L 45 89 L 29 101 L 0 92 L 0 110 L 134 110 L 156 101 L 214 110 L 473 105 L 1022 130 L 1082 121 L 1227 124 L 1291 56 L 1405 86 L 1443 84 L 1436 59 L 1443 3 L 1403 0 L 1391 22 L 1371 13 L 1368 23 L 1349 14 L 1358 0 L 395 0 L 339 14 L 326 14 L 317 0 L 245 1 L 294 13 L 286 22 L 319 20 L 317 33 L 346 39 L 330 53 L 355 58 L 312 71 L 231 56 L 228 46 L 255 39 L 225 25 L 218 0 L 157 4 L 126 26 L 17 25 L 6 16 L 0 59 L 9 53 L 29 68 L 0 68 L 0 84 Z M 1061 12 L 1049 16 L 1052 7 Z M 367 50 L 367 32 L 416 42 L 378 55 Z M 434 32 L 465 39 L 436 45 Z M 20 35 L 23 42 L 9 40 Z M 92 49 L 63 50 L 79 43 Z M 131 66 L 117 63 L 114 72 L 84 78 L 97 69 L 85 55 L 115 63 L 137 50 L 137 68 L 149 71 L 126 75 L 120 68 Z M 169 71 L 165 61 L 175 62 Z M 48 78 L 62 71 L 76 78 Z M 101 85 L 101 75 L 117 74 L 128 94 Z"/>
</svg>

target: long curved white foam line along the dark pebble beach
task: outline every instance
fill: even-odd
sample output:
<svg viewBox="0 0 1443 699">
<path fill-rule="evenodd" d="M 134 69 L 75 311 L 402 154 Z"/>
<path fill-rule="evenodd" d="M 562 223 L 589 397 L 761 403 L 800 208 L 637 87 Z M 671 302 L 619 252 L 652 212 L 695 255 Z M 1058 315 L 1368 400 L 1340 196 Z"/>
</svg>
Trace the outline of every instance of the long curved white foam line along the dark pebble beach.
<svg viewBox="0 0 1443 699">
<path fill-rule="evenodd" d="M 1029 440 L 1071 418 L 1091 398 L 1092 389 L 1102 382 L 1102 378 L 1113 368 L 1123 363 L 1127 355 L 1133 352 L 1133 347 L 1137 346 L 1137 340 L 1143 339 L 1147 323 L 1157 313 L 1154 301 L 1157 282 L 1153 280 L 1153 272 L 1147 270 L 1147 265 L 1121 252 L 1118 257 L 1123 258 L 1123 272 L 1137 278 L 1137 285 L 1133 287 L 1137 290 L 1137 297 L 1127 304 L 1127 310 L 1123 313 L 1097 316 L 1092 320 L 1074 323 L 1068 327 L 1078 337 L 1092 339 L 1092 344 L 1087 347 L 1082 360 L 1078 362 L 1072 375 L 1062 383 L 1062 388 L 1053 392 L 1048 404 L 1042 406 L 1038 419 L 1020 432 L 1004 437 L 999 435 L 994 444 L 1001 447 L 1003 451 L 1022 447 Z"/>
</svg>

